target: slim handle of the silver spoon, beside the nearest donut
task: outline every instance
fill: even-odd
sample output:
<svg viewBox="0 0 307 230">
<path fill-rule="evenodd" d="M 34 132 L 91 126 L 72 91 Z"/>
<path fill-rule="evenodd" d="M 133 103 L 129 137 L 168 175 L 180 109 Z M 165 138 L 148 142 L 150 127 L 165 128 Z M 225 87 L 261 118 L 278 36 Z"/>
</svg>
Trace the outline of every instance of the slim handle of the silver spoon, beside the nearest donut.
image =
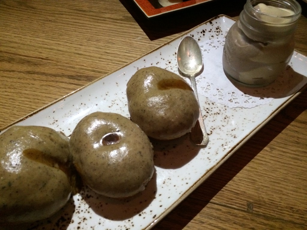
<svg viewBox="0 0 307 230">
<path fill-rule="evenodd" d="M 190 80 L 191 80 L 192 89 L 194 91 L 197 103 L 199 105 L 195 75 L 190 75 Z M 202 140 L 200 140 L 200 138 L 199 138 L 200 135 L 197 135 L 197 128 L 198 128 L 197 125 L 195 125 L 195 127 L 191 130 L 191 139 L 194 140 L 194 141 L 196 141 L 196 139 L 198 139 L 199 141 L 196 141 L 197 145 L 206 145 L 209 141 L 209 137 L 208 137 L 206 127 L 205 127 L 205 124 L 204 124 L 203 115 L 201 114 L 200 105 L 199 105 L 198 122 L 199 122 L 199 128 L 201 129 L 201 133 L 202 133 Z"/>
</svg>

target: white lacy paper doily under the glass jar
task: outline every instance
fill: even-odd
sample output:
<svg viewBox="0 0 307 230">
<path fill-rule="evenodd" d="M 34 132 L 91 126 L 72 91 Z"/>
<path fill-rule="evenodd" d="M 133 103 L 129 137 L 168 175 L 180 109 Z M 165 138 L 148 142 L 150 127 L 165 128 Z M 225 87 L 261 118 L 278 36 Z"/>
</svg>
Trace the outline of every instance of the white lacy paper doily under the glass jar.
<svg viewBox="0 0 307 230">
<path fill-rule="evenodd" d="M 196 76 L 197 91 L 213 102 L 230 108 L 252 108 L 270 103 L 274 98 L 282 98 L 293 93 L 297 81 L 293 80 L 290 66 L 272 84 L 261 88 L 234 85 L 224 74 L 222 66 L 225 39 L 200 42 L 203 53 L 204 71 Z"/>
</svg>

